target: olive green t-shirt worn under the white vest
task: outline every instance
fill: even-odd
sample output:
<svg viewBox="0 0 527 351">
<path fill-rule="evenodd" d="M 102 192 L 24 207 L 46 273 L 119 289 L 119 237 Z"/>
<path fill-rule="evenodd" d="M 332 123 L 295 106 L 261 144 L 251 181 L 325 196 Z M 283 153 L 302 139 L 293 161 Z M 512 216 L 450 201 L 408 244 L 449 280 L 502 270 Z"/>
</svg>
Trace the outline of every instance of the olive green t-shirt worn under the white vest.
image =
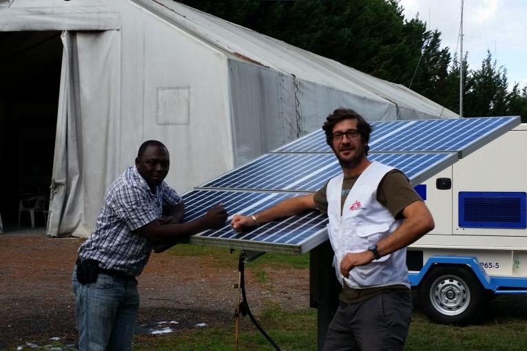
<svg viewBox="0 0 527 351">
<path fill-rule="evenodd" d="M 359 178 L 359 175 L 351 178 L 344 178 L 342 181 L 342 197 L 340 200 L 340 213 L 344 202 L 351 191 L 351 188 Z M 313 200 L 320 212 L 327 214 L 327 183 L 314 194 Z M 384 175 L 384 178 L 379 183 L 377 188 L 377 201 L 386 207 L 396 220 L 404 218 L 402 210 L 412 202 L 422 200 L 420 195 L 415 192 L 415 189 L 410 184 L 406 175 L 397 169 L 393 169 Z M 384 292 L 402 292 L 409 293 L 409 288 L 404 285 L 380 286 L 375 288 L 355 289 L 350 288 L 347 284 L 342 287 L 340 293 L 340 300 L 347 304 L 355 304 L 357 302 L 369 299 L 375 295 Z"/>
</svg>

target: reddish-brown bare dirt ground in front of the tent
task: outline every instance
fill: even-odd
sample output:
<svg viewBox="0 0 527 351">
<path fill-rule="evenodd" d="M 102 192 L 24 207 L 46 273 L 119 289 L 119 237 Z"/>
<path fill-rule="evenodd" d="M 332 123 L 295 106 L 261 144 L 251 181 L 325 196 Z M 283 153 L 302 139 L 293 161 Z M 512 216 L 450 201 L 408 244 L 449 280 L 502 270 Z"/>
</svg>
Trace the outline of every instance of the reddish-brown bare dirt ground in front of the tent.
<svg viewBox="0 0 527 351">
<path fill-rule="evenodd" d="M 71 273 L 83 239 L 47 238 L 43 229 L 0 234 L 0 349 L 28 343 L 43 346 L 60 338 L 74 343 Z M 227 254 L 227 253 L 226 253 Z M 176 326 L 231 325 L 236 308 L 237 257 L 232 268 L 218 268 L 211 257 L 150 257 L 138 277 L 141 295 L 136 332 Z M 246 270 L 247 301 L 258 312 L 265 301 L 289 309 L 309 307 L 308 270 L 272 270 L 273 281 L 260 284 Z M 165 322 L 165 323 L 160 323 Z M 170 323 L 172 322 L 172 323 Z"/>
</svg>

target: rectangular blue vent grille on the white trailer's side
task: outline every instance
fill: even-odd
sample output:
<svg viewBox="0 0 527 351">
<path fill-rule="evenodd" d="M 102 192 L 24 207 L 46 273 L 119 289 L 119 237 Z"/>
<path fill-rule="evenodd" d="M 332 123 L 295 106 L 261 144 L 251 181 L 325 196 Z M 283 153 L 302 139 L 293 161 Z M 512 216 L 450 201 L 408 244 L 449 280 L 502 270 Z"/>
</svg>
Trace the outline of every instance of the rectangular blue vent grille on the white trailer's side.
<svg viewBox="0 0 527 351">
<path fill-rule="evenodd" d="M 526 228 L 526 193 L 459 192 L 459 226 Z"/>
</svg>

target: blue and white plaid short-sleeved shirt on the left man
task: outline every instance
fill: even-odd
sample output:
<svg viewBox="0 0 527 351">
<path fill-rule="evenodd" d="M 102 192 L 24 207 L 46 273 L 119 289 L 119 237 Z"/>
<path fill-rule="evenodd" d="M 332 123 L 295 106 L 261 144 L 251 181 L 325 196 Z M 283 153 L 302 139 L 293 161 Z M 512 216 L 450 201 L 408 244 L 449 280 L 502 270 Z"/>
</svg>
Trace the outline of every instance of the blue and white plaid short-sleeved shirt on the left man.
<svg viewBox="0 0 527 351">
<path fill-rule="evenodd" d="M 81 259 L 96 259 L 101 268 L 138 276 L 148 262 L 152 244 L 135 232 L 181 202 L 165 182 L 153 193 L 136 167 L 128 169 L 106 192 L 95 230 L 79 248 Z"/>
</svg>

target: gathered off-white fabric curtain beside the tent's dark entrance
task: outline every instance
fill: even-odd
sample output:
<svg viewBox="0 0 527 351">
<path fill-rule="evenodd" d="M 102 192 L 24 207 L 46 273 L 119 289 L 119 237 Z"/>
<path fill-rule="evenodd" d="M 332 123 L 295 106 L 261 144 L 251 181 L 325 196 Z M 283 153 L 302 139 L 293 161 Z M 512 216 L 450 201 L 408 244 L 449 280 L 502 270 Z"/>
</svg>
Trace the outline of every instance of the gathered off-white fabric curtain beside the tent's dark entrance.
<svg viewBox="0 0 527 351">
<path fill-rule="evenodd" d="M 48 235 L 86 236 L 118 159 L 116 31 L 64 32 Z"/>
</svg>

